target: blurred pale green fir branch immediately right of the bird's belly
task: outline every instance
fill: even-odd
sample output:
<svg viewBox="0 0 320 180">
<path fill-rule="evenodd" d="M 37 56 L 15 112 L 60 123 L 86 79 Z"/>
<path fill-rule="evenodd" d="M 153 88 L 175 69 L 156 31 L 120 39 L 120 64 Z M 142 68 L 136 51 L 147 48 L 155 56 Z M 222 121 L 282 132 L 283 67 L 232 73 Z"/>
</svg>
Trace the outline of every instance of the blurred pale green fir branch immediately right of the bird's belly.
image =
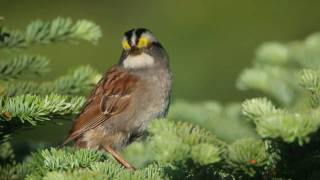
<svg viewBox="0 0 320 180">
<path fill-rule="evenodd" d="M 242 119 L 240 103 L 223 105 L 216 101 L 191 103 L 178 100 L 171 105 L 168 119 L 199 125 L 227 142 L 256 136 L 250 123 Z"/>
</svg>

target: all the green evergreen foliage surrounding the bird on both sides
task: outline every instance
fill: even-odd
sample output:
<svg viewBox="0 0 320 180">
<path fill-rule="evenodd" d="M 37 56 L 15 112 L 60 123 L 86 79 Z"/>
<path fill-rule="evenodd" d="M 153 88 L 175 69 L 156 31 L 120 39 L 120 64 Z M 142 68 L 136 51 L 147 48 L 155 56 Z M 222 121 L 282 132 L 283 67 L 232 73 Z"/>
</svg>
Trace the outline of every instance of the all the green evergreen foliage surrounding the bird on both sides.
<svg viewBox="0 0 320 180">
<path fill-rule="evenodd" d="M 90 21 L 35 21 L 25 31 L 0 31 L 0 48 L 86 40 L 101 32 Z M 38 148 L 19 161 L 14 133 L 73 119 L 82 95 L 100 75 L 80 67 L 53 81 L 34 82 L 48 60 L 18 56 L 0 63 L 1 179 L 316 179 L 320 177 L 320 34 L 293 43 L 264 43 L 237 82 L 265 97 L 222 105 L 176 101 L 167 119 L 152 121 L 146 136 L 121 153 L 137 171 L 103 151 Z"/>
</svg>

